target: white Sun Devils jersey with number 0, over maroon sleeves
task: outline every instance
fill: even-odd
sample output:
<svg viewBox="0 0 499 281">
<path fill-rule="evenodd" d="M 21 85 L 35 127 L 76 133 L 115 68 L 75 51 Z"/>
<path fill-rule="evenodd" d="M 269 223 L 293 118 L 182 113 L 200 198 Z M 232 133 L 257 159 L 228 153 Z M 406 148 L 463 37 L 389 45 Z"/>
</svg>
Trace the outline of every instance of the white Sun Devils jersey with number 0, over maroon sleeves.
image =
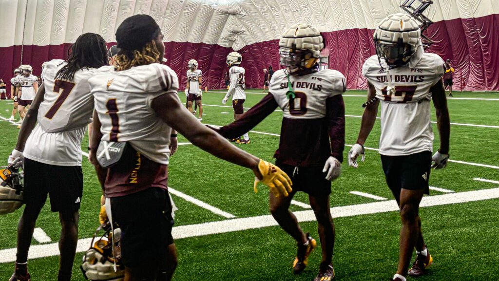
<svg viewBox="0 0 499 281">
<path fill-rule="evenodd" d="M 324 69 L 307 75 L 289 75 L 295 97 L 288 98 L 287 74 L 284 69 L 275 71 L 270 79 L 268 92 L 282 109 L 284 117 L 291 119 L 319 119 L 326 116 L 329 97 L 346 90 L 345 77 L 341 72 Z"/>
</svg>

